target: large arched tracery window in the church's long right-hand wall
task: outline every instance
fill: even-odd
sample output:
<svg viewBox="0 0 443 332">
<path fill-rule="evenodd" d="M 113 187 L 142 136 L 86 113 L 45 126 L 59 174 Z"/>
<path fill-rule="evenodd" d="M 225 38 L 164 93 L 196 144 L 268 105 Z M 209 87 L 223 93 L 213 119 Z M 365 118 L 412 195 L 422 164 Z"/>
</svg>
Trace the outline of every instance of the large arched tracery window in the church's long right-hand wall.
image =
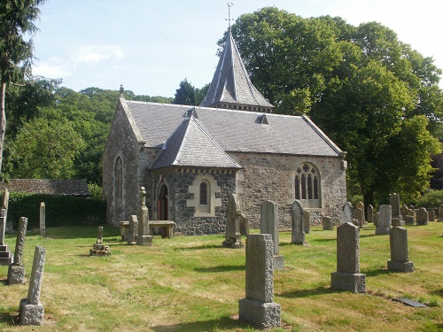
<svg viewBox="0 0 443 332">
<path fill-rule="evenodd" d="M 322 207 L 320 185 L 320 174 L 317 168 L 309 163 L 302 164 L 295 174 L 295 199 L 305 201 L 306 207 Z"/>
</svg>

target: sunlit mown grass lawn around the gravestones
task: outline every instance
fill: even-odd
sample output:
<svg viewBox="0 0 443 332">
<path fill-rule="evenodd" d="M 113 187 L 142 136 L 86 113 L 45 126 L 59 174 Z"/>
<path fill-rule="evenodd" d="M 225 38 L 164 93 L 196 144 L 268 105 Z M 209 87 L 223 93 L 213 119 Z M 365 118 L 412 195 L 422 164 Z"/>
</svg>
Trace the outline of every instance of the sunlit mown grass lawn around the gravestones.
<svg viewBox="0 0 443 332">
<path fill-rule="evenodd" d="M 311 228 L 308 246 L 280 233 L 284 270 L 274 273 L 274 301 L 282 327 L 273 331 L 438 331 L 443 329 L 443 222 L 409 226 L 409 259 L 416 272 L 386 270 L 389 235 L 361 230 L 361 273 L 366 294 L 330 290 L 336 266 L 336 228 Z M 253 233 L 258 233 L 253 230 Z M 24 285 L 6 285 L 0 266 L 1 331 L 252 331 L 237 320 L 245 297 L 245 250 L 221 247 L 224 235 L 154 236 L 152 247 L 120 241 L 105 226 L 111 256 L 89 257 L 97 227 L 28 230 Z M 5 243 L 14 251 L 16 235 Z M 245 239 L 243 239 L 245 241 Z M 46 248 L 42 326 L 17 326 L 19 301 L 27 297 L 35 245 Z M 416 308 L 392 301 L 408 297 Z"/>
</svg>

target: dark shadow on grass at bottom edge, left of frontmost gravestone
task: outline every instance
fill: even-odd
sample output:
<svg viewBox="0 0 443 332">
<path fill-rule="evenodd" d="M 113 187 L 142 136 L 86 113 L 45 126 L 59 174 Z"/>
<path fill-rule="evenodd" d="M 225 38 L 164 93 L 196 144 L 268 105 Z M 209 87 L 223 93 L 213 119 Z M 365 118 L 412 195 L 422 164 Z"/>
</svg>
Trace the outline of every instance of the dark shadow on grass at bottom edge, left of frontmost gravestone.
<svg viewBox="0 0 443 332">
<path fill-rule="evenodd" d="M 236 328 L 248 328 L 247 323 L 235 320 L 231 317 L 225 316 L 215 320 L 204 321 L 190 321 L 182 324 L 174 325 L 160 325 L 152 327 L 155 332 L 163 331 L 214 331 L 217 329 L 222 330 L 235 330 Z"/>
</svg>

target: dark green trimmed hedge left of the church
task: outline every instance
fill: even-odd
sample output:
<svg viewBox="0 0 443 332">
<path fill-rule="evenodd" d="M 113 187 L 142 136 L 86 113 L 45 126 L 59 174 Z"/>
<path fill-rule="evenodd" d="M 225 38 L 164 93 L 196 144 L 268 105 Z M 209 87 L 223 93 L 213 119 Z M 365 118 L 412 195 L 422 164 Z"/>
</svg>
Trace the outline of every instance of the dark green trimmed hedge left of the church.
<svg viewBox="0 0 443 332">
<path fill-rule="evenodd" d="M 3 194 L 2 194 L 3 196 Z M 19 217 L 27 228 L 40 227 L 40 204 L 45 205 L 45 226 L 100 225 L 106 222 L 106 203 L 97 198 L 10 192 L 8 220 L 17 229 Z"/>
</svg>

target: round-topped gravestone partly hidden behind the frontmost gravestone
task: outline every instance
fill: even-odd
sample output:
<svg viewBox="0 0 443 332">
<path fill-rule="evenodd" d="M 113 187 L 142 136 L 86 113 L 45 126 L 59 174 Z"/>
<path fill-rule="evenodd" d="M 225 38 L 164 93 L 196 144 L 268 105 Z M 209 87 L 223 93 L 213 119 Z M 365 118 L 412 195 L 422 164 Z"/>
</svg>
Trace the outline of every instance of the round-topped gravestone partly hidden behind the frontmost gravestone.
<svg viewBox="0 0 443 332">
<path fill-rule="evenodd" d="M 284 269 L 284 257 L 279 254 L 278 236 L 278 205 L 272 201 L 261 204 L 260 212 L 260 233 L 272 235 L 274 241 L 274 269 Z"/>
</svg>

